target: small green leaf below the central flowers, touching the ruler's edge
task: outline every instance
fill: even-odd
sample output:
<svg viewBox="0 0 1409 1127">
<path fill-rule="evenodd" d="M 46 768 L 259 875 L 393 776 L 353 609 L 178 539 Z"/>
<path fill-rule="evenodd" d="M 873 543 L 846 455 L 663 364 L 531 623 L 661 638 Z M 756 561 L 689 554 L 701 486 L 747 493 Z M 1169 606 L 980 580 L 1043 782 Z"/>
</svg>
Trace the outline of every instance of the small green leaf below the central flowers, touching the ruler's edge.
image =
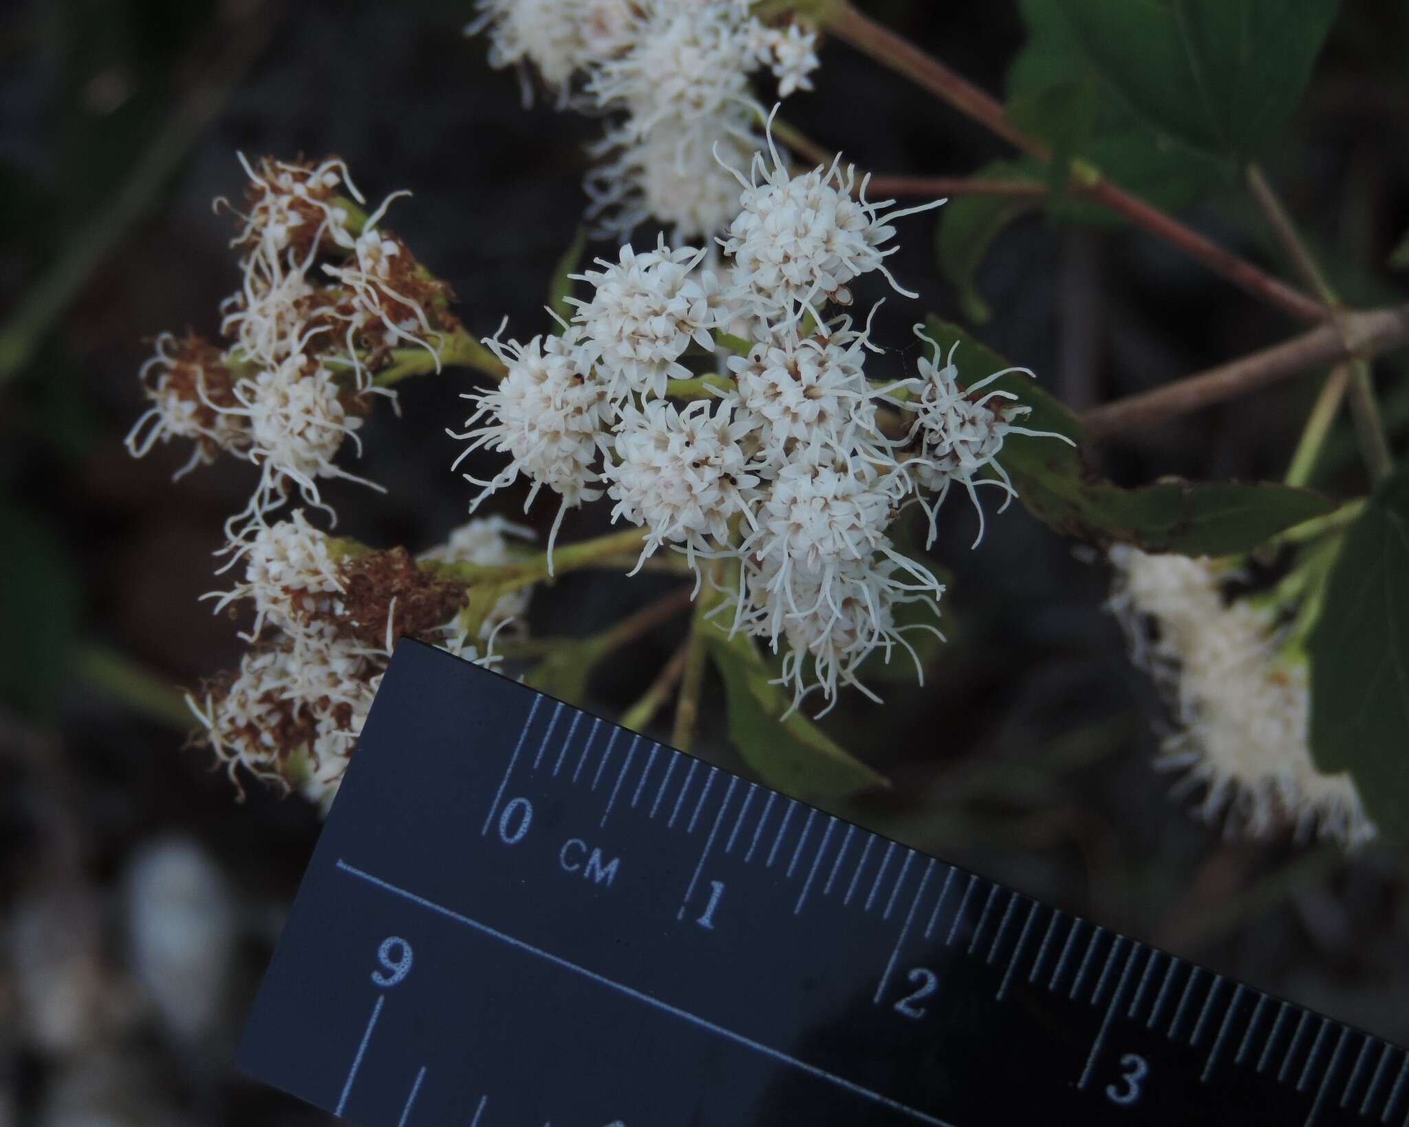
<svg viewBox="0 0 1409 1127">
<path fill-rule="evenodd" d="M 885 776 L 843 749 L 800 711 L 783 718 L 792 695 L 771 682 L 752 638 L 745 634 L 730 638 L 713 623 L 700 628 L 724 680 L 730 740 L 764 782 L 805 802 L 844 799 L 889 786 Z"/>
</svg>

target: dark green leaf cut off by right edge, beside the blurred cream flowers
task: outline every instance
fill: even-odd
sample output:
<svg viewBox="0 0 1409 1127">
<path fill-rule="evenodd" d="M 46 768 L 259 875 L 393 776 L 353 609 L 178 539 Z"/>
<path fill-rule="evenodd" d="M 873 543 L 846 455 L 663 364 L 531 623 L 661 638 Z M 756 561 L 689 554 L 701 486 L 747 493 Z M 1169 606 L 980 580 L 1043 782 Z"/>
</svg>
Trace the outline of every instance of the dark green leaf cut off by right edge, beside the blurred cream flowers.
<svg viewBox="0 0 1409 1127">
<path fill-rule="evenodd" d="M 1316 766 L 1348 771 L 1381 833 L 1409 841 L 1409 471 L 1346 534 L 1308 651 Z"/>
</svg>

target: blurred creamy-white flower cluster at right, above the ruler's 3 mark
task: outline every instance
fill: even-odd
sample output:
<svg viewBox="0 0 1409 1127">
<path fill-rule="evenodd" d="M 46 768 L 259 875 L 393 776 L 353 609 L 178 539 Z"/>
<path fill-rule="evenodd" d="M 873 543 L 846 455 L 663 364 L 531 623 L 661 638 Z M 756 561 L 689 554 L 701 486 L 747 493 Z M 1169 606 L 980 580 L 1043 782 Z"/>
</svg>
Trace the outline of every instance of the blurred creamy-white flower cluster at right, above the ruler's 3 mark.
<svg viewBox="0 0 1409 1127">
<path fill-rule="evenodd" d="M 1275 611 L 1226 600 L 1208 559 L 1127 547 L 1110 559 L 1112 606 L 1179 726 L 1160 762 L 1184 772 L 1186 787 L 1203 787 L 1199 813 L 1250 835 L 1286 818 L 1301 834 L 1374 837 L 1351 778 L 1323 775 L 1312 761 L 1308 665 L 1284 652 Z"/>
</svg>

